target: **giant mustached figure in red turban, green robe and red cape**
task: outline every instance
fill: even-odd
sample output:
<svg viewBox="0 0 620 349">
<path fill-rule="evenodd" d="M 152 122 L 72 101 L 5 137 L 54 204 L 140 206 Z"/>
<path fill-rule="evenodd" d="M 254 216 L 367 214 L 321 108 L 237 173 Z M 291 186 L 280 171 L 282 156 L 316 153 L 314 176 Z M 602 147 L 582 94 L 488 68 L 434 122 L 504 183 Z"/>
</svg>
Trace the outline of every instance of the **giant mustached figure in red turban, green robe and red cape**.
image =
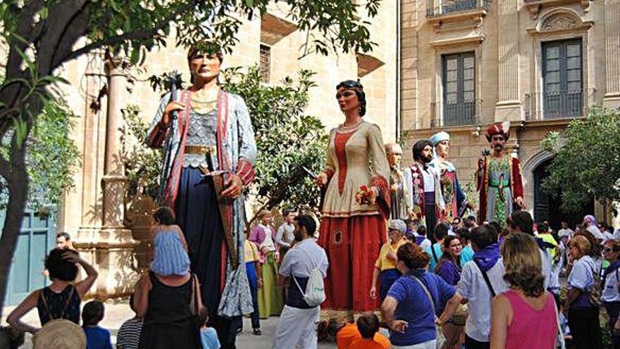
<svg viewBox="0 0 620 349">
<path fill-rule="evenodd" d="M 506 226 L 506 219 L 516 209 L 525 209 L 523 180 L 519 159 L 504 151 L 510 135 L 510 123 L 495 123 L 486 131 L 490 154 L 478 159 L 476 190 L 480 191 L 478 222 L 497 221 Z"/>
</svg>

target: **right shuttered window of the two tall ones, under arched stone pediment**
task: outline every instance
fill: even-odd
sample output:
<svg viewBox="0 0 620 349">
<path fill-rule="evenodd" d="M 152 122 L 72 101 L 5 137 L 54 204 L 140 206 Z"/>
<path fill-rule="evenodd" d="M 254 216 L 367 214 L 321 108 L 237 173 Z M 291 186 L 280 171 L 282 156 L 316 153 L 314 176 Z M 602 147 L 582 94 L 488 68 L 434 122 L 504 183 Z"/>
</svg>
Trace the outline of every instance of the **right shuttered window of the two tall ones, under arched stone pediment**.
<svg viewBox="0 0 620 349">
<path fill-rule="evenodd" d="M 583 116 L 581 39 L 543 43 L 543 116 Z"/>
</svg>

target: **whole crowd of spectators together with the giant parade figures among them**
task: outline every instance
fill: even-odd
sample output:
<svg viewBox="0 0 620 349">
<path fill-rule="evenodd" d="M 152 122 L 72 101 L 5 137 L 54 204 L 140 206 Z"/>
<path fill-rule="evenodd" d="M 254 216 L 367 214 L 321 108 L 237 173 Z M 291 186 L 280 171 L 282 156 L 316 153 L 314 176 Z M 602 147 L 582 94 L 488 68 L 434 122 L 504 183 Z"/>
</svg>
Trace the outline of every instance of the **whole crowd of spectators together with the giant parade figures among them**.
<svg viewBox="0 0 620 349">
<path fill-rule="evenodd" d="M 316 348 L 332 335 L 345 349 L 549 349 L 565 338 L 602 348 L 601 310 L 620 348 L 620 236 L 592 215 L 574 231 L 534 224 L 520 161 L 506 149 L 509 123 L 485 132 L 474 205 L 449 160 L 448 133 L 415 142 L 414 163 L 402 166 L 402 147 L 384 145 L 364 120 L 364 87 L 342 81 L 344 121 L 330 130 L 323 171 L 307 171 L 321 189 L 320 224 L 294 209 L 278 229 L 268 211 L 249 228 L 244 190 L 257 152 L 249 111 L 218 85 L 221 54 L 192 47 L 187 61 L 192 85 L 166 94 L 149 128 L 149 146 L 164 153 L 162 206 L 117 348 L 234 349 L 244 316 L 261 336 L 261 319 L 273 315 L 276 349 Z M 8 322 L 36 333 L 35 348 L 46 348 L 56 326 L 83 342 L 69 348 L 109 348 L 101 302 L 84 306 L 78 326 L 97 271 L 68 235 L 58 241 L 65 245 L 46 258 L 51 284 Z M 42 329 L 21 320 L 35 307 Z"/>
</svg>

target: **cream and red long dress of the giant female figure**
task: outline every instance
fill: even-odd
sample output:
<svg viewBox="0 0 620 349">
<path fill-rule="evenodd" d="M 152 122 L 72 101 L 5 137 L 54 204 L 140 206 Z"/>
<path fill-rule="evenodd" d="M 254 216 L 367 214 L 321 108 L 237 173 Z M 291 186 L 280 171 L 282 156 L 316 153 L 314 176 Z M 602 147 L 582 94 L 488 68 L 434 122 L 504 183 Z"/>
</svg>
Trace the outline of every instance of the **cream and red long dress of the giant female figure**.
<svg viewBox="0 0 620 349">
<path fill-rule="evenodd" d="M 331 130 L 324 172 L 328 185 L 318 243 L 330 267 L 321 317 L 342 320 L 380 305 L 369 293 L 374 262 L 387 238 L 385 219 L 390 216 L 390 166 L 379 127 L 361 121 Z M 375 204 L 356 201 L 361 185 L 377 188 Z"/>
</svg>

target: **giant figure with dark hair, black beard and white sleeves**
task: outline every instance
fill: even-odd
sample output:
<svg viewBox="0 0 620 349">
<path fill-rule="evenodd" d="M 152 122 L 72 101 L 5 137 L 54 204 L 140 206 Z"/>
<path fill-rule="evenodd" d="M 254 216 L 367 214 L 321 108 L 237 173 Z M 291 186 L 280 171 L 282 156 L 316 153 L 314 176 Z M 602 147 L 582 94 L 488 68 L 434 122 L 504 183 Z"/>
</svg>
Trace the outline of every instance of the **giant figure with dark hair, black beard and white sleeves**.
<svg viewBox="0 0 620 349">
<path fill-rule="evenodd" d="M 404 170 L 404 183 L 409 195 L 410 215 L 418 220 L 418 226 L 426 226 L 428 236 L 433 235 L 435 225 L 443 216 L 445 203 L 441 193 L 441 175 L 430 165 L 433 160 L 433 143 L 419 140 L 414 144 L 413 165 Z"/>
</svg>

